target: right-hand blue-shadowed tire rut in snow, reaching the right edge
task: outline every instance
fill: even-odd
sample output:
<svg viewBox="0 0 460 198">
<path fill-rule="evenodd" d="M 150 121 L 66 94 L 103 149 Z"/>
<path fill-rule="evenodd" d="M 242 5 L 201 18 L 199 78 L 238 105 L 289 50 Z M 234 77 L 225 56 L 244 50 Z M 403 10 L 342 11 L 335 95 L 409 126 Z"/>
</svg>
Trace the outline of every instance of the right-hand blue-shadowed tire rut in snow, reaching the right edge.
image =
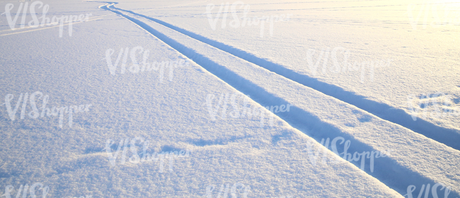
<svg viewBox="0 0 460 198">
<path fill-rule="evenodd" d="M 113 6 L 113 8 L 115 7 Z M 404 110 L 396 109 L 385 103 L 379 103 L 374 100 L 369 100 L 362 95 L 357 95 L 356 93 L 345 91 L 343 88 L 340 88 L 339 86 L 318 81 L 318 79 L 306 76 L 304 74 L 299 74 L 296 71 L 293 71 L 292 69 L 287 69 L 286 67 L 280 64 L 269 62 L 268 60 L 256 57 L 254 54 L 250 54 L 243 50 L 239 50 L 235 47 L 225 45 L 222 42 L 210 40 L 207 37 L 203 37 L 202 35 L 197 35 L 188 30 L 178 28 L 174 25 L 171 25 L 164 21 L 160 21 L 156 18 L 144 16 L 142 14 L 134 13 L 133 11 L 123 10 L 121 8 L 115 9 L 125 11 L 127 13 L 132 13 L 135 16 L 140 16 L 142 18 L 146 18 L 150 21 L 154 21 L 156 23 L 164 25 L 168 28 L 178 31 L 179 33 L 192 37 L 195 40 L 199 40 L 201 42 L 206 43 L 207 45 L 216 47 L 217 49 L 232 54 L 235 57 L 244 59 L 247 62 L 251 62 L 253 64 L 261 66 L 265 69 L 268 69 L 269 71 L 284 76 L 285 78 L 289 78 L 292 81 L 300 83 L 309 88 L 313 88 L 316 91 L 329 95 L 333 98 L 337 98 L 338 100 L 342 100 L 343 102 L 348 103 L 350 105 L 354 105 L 355 107 L 369 112 L 372 115 L 375 115 L 376 117 L 380 117 L 383 120 L 399 124 L 407 129 L 412 130 L 413 132 L 427 136 L 430 139 L 433 139 L 435 141 L 438 141 L 439 143 L 445 144 L 460 151 L 460 132 L 456 129 L 447 129 L 444 127 L 439 127 L 431 122 L 427 122 L 420 118 L 418 118 L 416 121 L 413 121 L 411 115 L 409 115 Z"/>
</svg>

